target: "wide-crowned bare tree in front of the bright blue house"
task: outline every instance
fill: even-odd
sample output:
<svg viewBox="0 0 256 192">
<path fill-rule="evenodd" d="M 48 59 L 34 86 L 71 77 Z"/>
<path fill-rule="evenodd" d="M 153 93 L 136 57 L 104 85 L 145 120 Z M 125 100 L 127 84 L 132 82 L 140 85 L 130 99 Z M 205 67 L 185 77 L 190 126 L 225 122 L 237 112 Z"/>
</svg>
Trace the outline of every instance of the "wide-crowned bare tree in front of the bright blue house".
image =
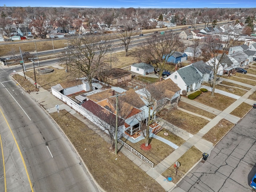
<svg viewBox="0 0 256 192">
<path fill-rule="evenodd" d="M 148 37 L 145 42 L 139 46 L 134 55 L 145 63 L 150 63 L 154 66 L 159 74 L 162 76 L 167 60 L 172 54 L 183 47 L 183 43 L 174 33 L 165 33 Z"/>
</svg>

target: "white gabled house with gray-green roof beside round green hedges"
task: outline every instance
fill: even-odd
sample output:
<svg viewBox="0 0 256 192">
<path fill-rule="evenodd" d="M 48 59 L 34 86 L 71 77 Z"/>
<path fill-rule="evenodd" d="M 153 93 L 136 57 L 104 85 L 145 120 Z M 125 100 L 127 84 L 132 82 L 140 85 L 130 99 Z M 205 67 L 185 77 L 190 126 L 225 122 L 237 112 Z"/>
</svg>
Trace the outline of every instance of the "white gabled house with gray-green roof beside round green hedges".
<svg viewBox="0 0 256 192">
<path fill-rule="evenodd" d="M 201 87 L 202 76 L 196 68 L 190 64 L 188 66 L 182 67 L 176 70 L 166 79 L 170 78 L 181 90 L 186 90 L 186 92 L 197 90 Z"/>
</svg>

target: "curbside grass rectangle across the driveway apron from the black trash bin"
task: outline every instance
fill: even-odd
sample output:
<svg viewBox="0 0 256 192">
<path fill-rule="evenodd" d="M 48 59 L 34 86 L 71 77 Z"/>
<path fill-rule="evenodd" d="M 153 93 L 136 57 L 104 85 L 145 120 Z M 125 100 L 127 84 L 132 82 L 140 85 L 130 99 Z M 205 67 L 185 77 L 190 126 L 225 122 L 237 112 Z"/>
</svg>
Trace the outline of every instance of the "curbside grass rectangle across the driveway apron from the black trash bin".
<svg viewBox="0 0 256 192">
<path fill-rule="evenodd" d="M 214 145 L 234 126 L 226 119 L 220 120 L 216 126 L 211 128 L 202 138 L 212 142 Z"/>
</svg>

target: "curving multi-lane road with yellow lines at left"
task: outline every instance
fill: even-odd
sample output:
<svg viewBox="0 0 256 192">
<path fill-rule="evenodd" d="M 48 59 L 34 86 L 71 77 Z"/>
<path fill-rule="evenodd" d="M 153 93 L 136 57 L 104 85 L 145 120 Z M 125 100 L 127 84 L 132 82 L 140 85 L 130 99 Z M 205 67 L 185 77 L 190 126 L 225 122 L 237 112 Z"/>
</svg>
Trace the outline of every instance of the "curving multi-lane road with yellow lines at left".
<svg viewBox="0 0 256 192">
<path fill-rule="evenodd" d="M 96 192 L 58 126 L 0 67 L 0 192 Z"/>
</svg>

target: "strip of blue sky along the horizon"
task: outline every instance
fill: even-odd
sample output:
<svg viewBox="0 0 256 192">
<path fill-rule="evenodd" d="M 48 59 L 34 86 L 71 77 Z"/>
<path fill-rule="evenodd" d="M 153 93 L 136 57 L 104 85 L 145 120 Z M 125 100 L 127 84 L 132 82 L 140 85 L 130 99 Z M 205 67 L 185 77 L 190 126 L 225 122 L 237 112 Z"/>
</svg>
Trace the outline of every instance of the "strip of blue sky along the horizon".
<svg viewBox="0 0 256 192">
<path fill-rule="evenodd" d="M 72 8 L 255 8 L 254 0 L 1 0 L 7 7 Z"/>
</svg>

